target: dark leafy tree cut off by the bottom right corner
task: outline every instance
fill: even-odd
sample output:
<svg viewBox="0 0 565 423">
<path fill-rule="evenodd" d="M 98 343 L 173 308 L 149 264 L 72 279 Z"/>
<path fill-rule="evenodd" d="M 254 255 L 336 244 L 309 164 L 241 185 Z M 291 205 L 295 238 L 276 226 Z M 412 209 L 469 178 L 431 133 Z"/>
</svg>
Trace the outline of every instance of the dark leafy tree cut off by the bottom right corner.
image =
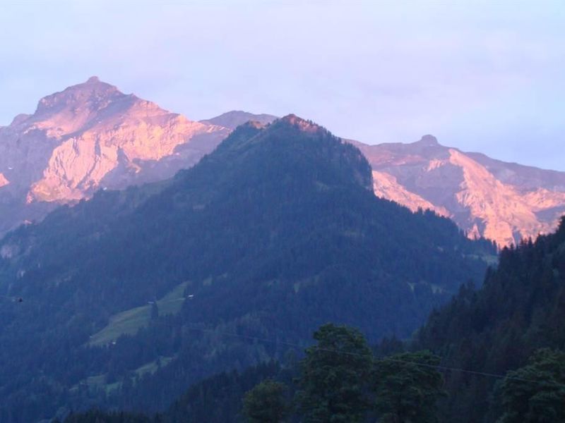
<svg viewBox="0 0 565 423">
<path fill-rule="evenodd" d="M 529 364 L 508 372 L 501 396 L 498 423 L 565 422 L 565 353 L 537 350 Z"/>
</svg>

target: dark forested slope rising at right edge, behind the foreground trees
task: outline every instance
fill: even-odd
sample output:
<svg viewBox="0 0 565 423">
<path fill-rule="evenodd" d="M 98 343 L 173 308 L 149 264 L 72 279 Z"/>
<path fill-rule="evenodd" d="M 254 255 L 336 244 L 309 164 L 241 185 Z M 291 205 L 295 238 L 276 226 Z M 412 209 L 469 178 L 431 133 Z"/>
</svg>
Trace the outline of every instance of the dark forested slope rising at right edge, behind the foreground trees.
<svg viewBox="0 0 565 423">
<path fill-rule="evenodd" d="M 538 348 L 565 349 L 565 217 L 556 233 L 502 250 L 480 290 L 463 287 L 432 313 L 415 348 L 444 357 L 442 365 L 505 374 Z M 442 422 L 494 422 L 501 414 L 496 378 L 448 372 L 451 396 Z M 541 421 L 541 420 L 540 420 Z"/>
</svg>

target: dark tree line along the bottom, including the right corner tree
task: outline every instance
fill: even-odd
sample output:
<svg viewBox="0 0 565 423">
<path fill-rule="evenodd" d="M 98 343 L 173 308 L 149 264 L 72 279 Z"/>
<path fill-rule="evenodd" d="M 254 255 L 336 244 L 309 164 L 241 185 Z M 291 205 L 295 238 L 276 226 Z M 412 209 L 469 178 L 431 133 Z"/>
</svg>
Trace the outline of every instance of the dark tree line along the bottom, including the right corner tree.
<svg viewBox="0 0 565 423">
<path fill-rule="evenodd" d="M 165 413 L 90 410 L 64 423 L 439 421 L 438 403 L 448 397 L 439 356 L 426 350 L 381 356 L 360 331 L 335 324 L 321 326 L 314 340 L 293 369 L 270 362 L 251 372 L 214 376 L 191 387 Z M 254 376 L 263 379 L 243 393 Z M 565 421 L 565 353 L 537 350 L 498 390 L 497 423 Z"/>
</svg>

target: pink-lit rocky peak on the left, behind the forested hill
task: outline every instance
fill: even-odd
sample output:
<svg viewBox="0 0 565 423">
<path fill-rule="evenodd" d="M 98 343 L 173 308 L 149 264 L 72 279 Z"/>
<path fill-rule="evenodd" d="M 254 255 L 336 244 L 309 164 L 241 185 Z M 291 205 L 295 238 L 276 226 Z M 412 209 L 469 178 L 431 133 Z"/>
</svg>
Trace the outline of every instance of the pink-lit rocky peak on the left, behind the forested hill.
<svg viewBox="0 0 565 423">
<path fill-rule="evenodd" d="M 160 180 L 230 133 L 90 78 L 0 128 L 0 233 L 100 188 Z"/>
</svg>

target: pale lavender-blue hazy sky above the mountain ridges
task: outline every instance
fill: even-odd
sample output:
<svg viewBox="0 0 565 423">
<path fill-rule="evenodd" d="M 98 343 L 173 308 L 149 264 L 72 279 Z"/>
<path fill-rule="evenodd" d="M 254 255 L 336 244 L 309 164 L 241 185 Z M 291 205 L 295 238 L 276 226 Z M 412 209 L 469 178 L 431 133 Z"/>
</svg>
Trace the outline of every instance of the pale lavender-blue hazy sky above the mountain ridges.
<svg viewBox="0 0 565 423">
<path fill-rule="evenodd" d="M 565 171 L 565 1 L 0 1 L 0 125 L 91 75 L 199 120 Z"/>
</svg>

